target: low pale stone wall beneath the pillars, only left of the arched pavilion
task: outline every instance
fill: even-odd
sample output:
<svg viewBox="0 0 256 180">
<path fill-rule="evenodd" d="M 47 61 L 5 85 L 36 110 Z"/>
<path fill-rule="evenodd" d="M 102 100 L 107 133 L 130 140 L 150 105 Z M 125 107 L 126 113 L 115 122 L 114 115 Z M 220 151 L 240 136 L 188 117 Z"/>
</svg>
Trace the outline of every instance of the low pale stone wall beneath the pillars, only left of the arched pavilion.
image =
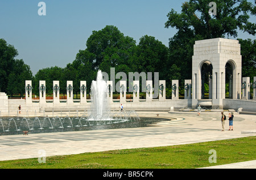
<svg viewBox="0 0 256 180">
<path fill-rule="evenodd" d="M 67 105 L 67 103 L 54 104 L 52 102 L 40 104 L 39 101 L 32 101 L 32 103 L 26 103 L 25 99 L 8 99 L 8 110 L 10 114 L 16 114 L 18 106 L 22 107 L 22 114 L 34 114 L 35 112 L 49 112 L 49 111 L 85 111 L 90 110 L 91 102 L 88 101 L 86 104 L 80 104 L 79 102 L 73 103 L 72 105 Z M 109 104 L 110 110 L 119 110 L 121 103 L 112 102 Z M 135 111 L 170 111 L 171 107 L 174 108 L 184 108 L 191 106 L 191 99 L 179 99 L 166 101 L 153 100 L 152 102 L 125 102 L 122 103 L 123 110 L 135 110 Z M 1 110 L 0 110 L 1 111 Z M 7 111 L 6 111 L 7 112 Z"/>
</svg>

